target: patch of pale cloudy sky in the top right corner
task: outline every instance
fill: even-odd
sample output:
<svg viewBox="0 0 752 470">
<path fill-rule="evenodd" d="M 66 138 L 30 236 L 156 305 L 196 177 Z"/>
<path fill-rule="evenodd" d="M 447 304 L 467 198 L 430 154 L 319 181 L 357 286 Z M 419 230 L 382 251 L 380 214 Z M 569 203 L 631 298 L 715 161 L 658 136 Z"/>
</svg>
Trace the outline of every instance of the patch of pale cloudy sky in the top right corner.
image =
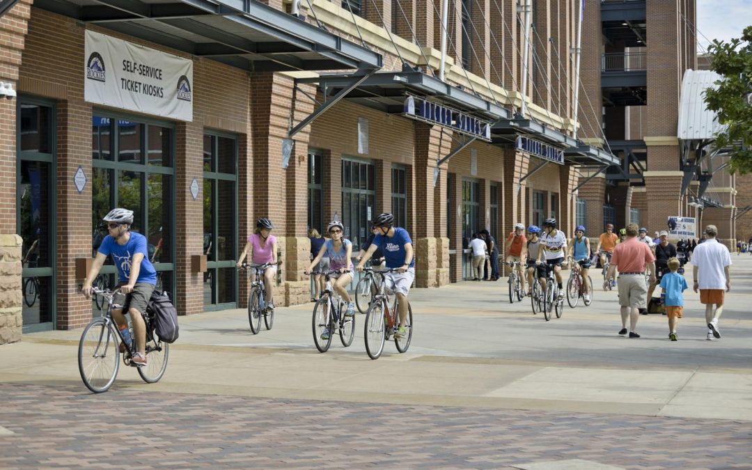
<svg viewBox="0 0 752 470">
<path fill-rule="evenodd" d="M 752 0 L 697 0 L 698 52 L 714 39 L 741 38 L 747 26 L 752 26 Z"/>
</svg>

